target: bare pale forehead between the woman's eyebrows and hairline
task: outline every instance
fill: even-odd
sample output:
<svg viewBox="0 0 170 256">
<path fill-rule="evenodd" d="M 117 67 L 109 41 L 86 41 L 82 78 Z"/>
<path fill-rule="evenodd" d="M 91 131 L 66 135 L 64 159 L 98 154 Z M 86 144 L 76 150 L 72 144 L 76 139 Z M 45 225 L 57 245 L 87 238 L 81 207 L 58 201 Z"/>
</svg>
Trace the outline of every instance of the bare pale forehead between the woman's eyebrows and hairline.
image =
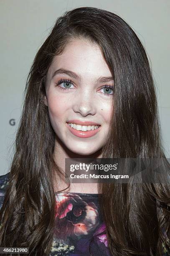
<svg viewBox="0 0 170 256">
<path fill-rule="evenodd" d="M 82 77 L 111 75 L 99 46 L 84 39 L 74 39 L 66 45 L 61 55 L 53 58 L 48 78 L 59 68 L 69 69 Z"/>
</svg>

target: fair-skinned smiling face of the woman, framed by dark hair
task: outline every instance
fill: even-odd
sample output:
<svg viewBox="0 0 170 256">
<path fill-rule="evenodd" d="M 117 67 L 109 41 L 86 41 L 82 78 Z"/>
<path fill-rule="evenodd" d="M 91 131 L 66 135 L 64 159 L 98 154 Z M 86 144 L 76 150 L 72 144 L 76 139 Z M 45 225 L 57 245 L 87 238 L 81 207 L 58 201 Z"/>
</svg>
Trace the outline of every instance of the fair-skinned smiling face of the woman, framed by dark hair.
<svg viewBox="0 0 170 256">
<path fill-rule="evenodd" d="M 104 88 L 106 84 L 112 87 Z M 112 74 L 98 45 L 74 39 L 63 54 L 54 57 L 47 74 L 45 103 L 58 151 L 66 147 L 75 154 L 90 155 L 104 146 L 111 118 L 112 88 Z"/>
</svg>

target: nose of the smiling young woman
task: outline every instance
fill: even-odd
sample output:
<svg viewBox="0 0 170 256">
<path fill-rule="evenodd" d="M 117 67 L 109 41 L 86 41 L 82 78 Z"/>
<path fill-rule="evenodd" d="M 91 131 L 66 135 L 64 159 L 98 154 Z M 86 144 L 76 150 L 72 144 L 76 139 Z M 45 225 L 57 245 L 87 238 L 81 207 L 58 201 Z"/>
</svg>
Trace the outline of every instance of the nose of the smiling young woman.
<svg viewBox="0 0 170 256">
<path fill-rule="evenodd" d="M 73 110 L 75 113 L 80 113 L 82 116 L 95 115 L 96 114 L 96 100 L 92 93 L 92 90 L 86 90 L 79 92 L 76 95 L 76 99 L 73 99 Z"/>
</svg>

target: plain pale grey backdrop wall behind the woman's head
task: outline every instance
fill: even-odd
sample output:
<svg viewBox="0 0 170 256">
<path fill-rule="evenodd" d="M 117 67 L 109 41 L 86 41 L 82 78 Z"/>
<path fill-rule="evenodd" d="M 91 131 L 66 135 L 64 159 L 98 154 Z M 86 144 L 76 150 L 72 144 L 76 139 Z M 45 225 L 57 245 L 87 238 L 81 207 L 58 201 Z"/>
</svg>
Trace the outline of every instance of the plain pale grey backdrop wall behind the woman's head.
<svg viewBox="0 0 170 256">
<path fill-rule="evenodd" d="M 137 33 L 152 63 L 162 139 L 170 157 L 169 0 L 0 0 L 0 175 L 9 172 L 30 66 L 56 18 L 82 6 L 109 10 Z M 14 119 L 10 125 L 9 121 Z"/>
</svg>

